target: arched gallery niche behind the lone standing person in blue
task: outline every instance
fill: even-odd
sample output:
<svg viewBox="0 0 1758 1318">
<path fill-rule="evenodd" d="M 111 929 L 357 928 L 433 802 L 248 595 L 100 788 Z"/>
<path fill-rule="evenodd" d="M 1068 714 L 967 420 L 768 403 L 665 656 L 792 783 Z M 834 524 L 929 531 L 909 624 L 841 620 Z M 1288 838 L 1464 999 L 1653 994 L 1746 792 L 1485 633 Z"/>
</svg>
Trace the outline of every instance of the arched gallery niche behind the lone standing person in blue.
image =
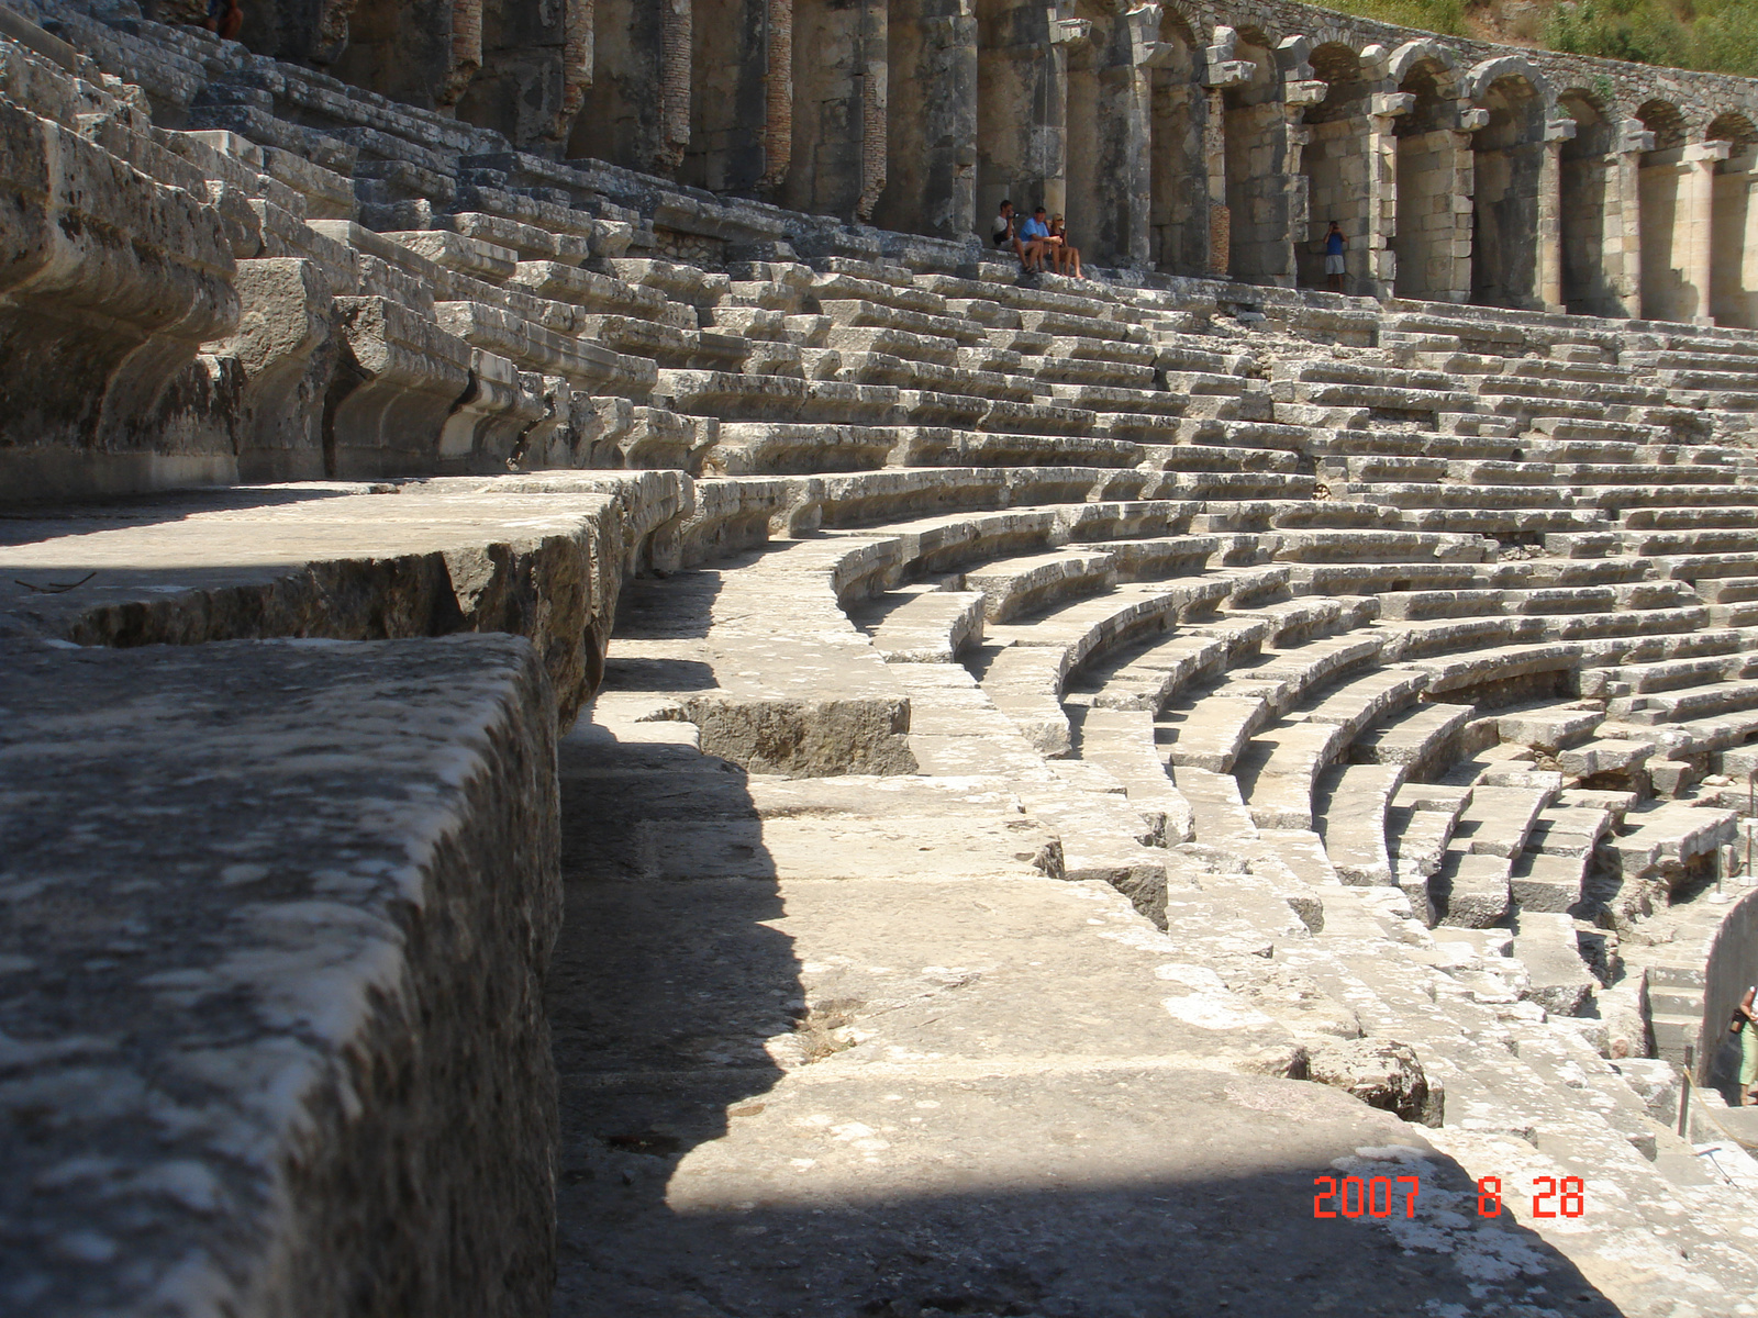
<svg viewBox="0 0 1758 1318">
<path fill-rule="evenodd" d="M 1306 107 L 1301 123 L 1306 146 L 1301 174 L 1306 179 L 1304 214 L 1297 209 L 1294 225 L 1294 264 L 1306 288 L 1329 286 L 1324 272 L 1324 246 L 1336 220 L 1348 239 L 1345 264 L 1350 283 L 1369 274 L 1371 188 L 1368 170 L 1373 123 L 1371 88 L 1361 67 L 1361 54 L 1343 42 L 1322 42 L 1306 58 L 1311 76 L 1326 84 L 1324 100 Z"/>
</svg>

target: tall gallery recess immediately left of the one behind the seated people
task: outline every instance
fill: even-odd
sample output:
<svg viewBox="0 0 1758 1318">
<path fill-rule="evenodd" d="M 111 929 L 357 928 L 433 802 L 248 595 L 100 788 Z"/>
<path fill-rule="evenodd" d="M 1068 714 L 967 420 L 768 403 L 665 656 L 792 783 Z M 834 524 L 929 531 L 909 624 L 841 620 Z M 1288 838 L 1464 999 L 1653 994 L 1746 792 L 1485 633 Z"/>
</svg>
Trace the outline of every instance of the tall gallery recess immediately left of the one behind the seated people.
<svg viewBox="0 0 1758 1318">
<path fill-rule="evenodd" d="M 977 221 L 977 33 L 958 0 L 890 0 L 886 190 L 874 223 L 963 237 Z"/>
</svg>

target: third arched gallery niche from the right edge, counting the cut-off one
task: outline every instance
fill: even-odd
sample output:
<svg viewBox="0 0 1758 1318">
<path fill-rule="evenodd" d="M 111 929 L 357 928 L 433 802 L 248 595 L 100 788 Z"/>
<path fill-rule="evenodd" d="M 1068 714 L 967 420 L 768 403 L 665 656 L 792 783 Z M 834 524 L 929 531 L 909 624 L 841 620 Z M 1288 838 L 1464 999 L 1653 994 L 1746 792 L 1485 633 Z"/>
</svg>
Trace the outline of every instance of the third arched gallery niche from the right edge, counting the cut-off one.
<svg viewBox="0 0 1758 1318">
<path fill-rule="evenodd" d="M 1617 121 L 1603 98 L 1584 88 L 1558 97 L 1573 119 L 1558 170 L 1563 237 L 1563 306 L 1584 316 L 1621 316 L 1623 195 L 1617 181 Z"/>
</svg>

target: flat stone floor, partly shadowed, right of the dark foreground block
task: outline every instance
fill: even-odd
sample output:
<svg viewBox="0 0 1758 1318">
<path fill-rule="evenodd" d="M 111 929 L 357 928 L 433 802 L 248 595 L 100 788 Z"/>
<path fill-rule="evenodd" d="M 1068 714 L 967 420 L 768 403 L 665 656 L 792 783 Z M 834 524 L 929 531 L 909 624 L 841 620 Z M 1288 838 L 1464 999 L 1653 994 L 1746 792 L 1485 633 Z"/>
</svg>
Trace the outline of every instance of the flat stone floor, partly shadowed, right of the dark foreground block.
<svg viewBox="0 0 1758 1318">
<path fill-rule="evenodd" d="M 598 719 L 561 750 L 557 1318 L 1668 1311 L 1285 1079 L 1287 1032 L 1051 877 L 995 780 Z M 1415 1176 L 1415 1218 L 1315 1220 L 1315 1176 Z"/>
</svg>

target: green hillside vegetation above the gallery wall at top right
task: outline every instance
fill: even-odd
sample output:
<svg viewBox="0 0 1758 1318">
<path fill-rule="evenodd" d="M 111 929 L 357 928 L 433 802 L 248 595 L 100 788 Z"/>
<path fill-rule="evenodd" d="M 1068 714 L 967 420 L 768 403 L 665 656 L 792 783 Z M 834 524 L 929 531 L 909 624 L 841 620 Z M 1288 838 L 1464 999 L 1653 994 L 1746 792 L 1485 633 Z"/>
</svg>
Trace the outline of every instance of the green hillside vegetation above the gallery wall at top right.
<svg viewBox="0 0 1758 1318">
<path fill-rule="evenodd" d="M 1347 14 L 1607 60 L 1758 77 L 1758 0 L 1558 0 L 1503 21 L 1501 0 L 1331 0 Z"/>
</svg>

